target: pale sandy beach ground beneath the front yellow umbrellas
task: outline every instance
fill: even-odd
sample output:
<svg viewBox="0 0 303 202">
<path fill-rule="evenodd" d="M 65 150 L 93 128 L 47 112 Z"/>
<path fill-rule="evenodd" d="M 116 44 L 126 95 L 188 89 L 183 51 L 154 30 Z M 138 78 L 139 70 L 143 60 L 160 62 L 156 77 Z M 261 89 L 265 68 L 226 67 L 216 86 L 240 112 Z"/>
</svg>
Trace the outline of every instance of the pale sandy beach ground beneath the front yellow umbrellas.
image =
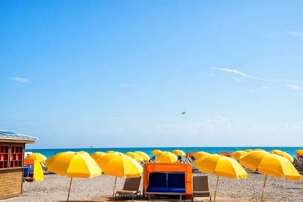
<svg viewBox="0 0 303 202">
<path fill-rule="evenodd" d="M 210 190 L 214 197 L 217 176 L 205 172 L 193 173 L 193 176 L 208 175 Z M 265 175 L 248 173 L 247 179 L 219 180 L 216 201 L 260 201 Z M 116 190 L 123 187 L 125 179 L 117 178 Z M 113 193 L 115 177 L 101 175 L 91 179 L 73 178 L 70 201 L 110 201 Z M 57 174 L 45 174 L 44 181 L 25 182 L 23 195 L 2 200 L 3 202 L 31 202 L 31 201 L 66 201 L 70 178 Z M 140 190 L 142 190 L 142 182 Z M 269 176 L 266 183 L 264 201 L 267 202 L 302 202 L 303 182 L 277 179 Z M 121 199 L 120 199 L 121 200 Z M 139 200 L 147 200 L 140 198 Z M 198 201 L 209 201 L 198 198 Z"/>
</svg>

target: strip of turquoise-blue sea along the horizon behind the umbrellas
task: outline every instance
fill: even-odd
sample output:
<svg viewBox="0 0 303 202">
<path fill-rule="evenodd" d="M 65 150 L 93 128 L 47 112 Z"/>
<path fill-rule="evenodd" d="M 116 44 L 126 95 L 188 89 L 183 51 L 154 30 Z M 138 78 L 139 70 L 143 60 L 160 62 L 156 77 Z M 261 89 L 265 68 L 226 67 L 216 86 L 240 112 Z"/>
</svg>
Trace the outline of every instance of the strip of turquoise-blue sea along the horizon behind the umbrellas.
<svg viewBox="0 0 303 202">
<path fill-rule="evenodd" d="M 134 152 L 134 151 L 143 151 L 147 153 L 149 156 L 154 156 L 154 154 L 150 153 L 154 149 L 159 149 L 161 151 L 173 151 L 175 149 L 180 149 L 186 152 L 197 152 L 197 151 L 206 151 L 208 153 L 218 153 L 218 152 L 234 152 L 237 150 L 245 150 L 245 149 L 264 149 L 266 151 L 271 151 L 273 149 L 279 149 L 281 151 L 289 153 L 291 156 L 295 157 L 295 151 L 298 149 L 303 149 L 303 147 L 136 147 L 136 148 L 66 148 L 66 149 L 26 149 L 25 151 L 31 151 L 36 153 L 41 153 L 45 155 L 47 158 L 51 157 L 55 153 L 65 152 L 65 151 L 86 151 L 88 153 L 94 153 L 96 151 L 107 152 L 111 151 L 119 151 L 122 153 L 126 152 Z"/>
</svg>

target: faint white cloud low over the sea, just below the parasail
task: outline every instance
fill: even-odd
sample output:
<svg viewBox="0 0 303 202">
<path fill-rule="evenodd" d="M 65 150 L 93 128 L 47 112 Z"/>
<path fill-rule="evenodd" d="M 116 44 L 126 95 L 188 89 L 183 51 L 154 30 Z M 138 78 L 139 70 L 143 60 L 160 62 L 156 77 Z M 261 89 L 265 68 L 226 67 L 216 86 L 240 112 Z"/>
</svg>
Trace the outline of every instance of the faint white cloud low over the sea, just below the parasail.
<svg viewBox="0 0 303 202">
<path fill-rule="evenodd" d="M 157 126 L 157 129 L 160 133 L 165 134 L 200 134 L 205 131 L 231 131 L 232 125 L 228 119 L 216 116 L 215 119 L 188 125 L 161 124 Z"/>
</svg>

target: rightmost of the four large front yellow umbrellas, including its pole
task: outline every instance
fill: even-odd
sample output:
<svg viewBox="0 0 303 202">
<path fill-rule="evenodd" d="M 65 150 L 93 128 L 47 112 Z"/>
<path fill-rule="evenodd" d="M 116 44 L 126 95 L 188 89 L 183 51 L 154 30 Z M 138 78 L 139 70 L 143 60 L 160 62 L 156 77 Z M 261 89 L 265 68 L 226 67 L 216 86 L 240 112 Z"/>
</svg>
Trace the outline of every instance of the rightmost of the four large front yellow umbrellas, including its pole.
<svg viewBox="0 0 303 202">
<path fill-rule="evenodd" d="M 286 158 L 276 154 L 264 151 L 252 151 L 241 156 L 240 164 L 253 171 L 258 169 L 259 173 L 266 175 L 261 202 L 263 200 L 267 175 L 276 178 L 282 178 L 284 176 L 285 180 L 301 180 L 300 174 L 294 168 L 292 163 L 290 163 Z"/>
</svg>

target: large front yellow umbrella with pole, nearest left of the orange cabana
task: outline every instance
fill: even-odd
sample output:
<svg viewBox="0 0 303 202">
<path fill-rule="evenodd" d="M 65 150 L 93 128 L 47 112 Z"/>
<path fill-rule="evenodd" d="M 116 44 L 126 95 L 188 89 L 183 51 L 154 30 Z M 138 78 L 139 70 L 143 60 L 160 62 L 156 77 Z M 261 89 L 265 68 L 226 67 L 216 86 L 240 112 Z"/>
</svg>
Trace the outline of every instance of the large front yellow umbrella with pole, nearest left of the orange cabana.
<svg viewBox="0 0 303 202">
<path fill-rule="evenodd" d="M 139 177 L 143 173 L 141 165 L 128 155 L 110 153 L 96 159 L 96 163 L 104 174 L 116 177 L 112 198 L 114 198 L 117 177 L 133 178 Z"/>
</svg>

